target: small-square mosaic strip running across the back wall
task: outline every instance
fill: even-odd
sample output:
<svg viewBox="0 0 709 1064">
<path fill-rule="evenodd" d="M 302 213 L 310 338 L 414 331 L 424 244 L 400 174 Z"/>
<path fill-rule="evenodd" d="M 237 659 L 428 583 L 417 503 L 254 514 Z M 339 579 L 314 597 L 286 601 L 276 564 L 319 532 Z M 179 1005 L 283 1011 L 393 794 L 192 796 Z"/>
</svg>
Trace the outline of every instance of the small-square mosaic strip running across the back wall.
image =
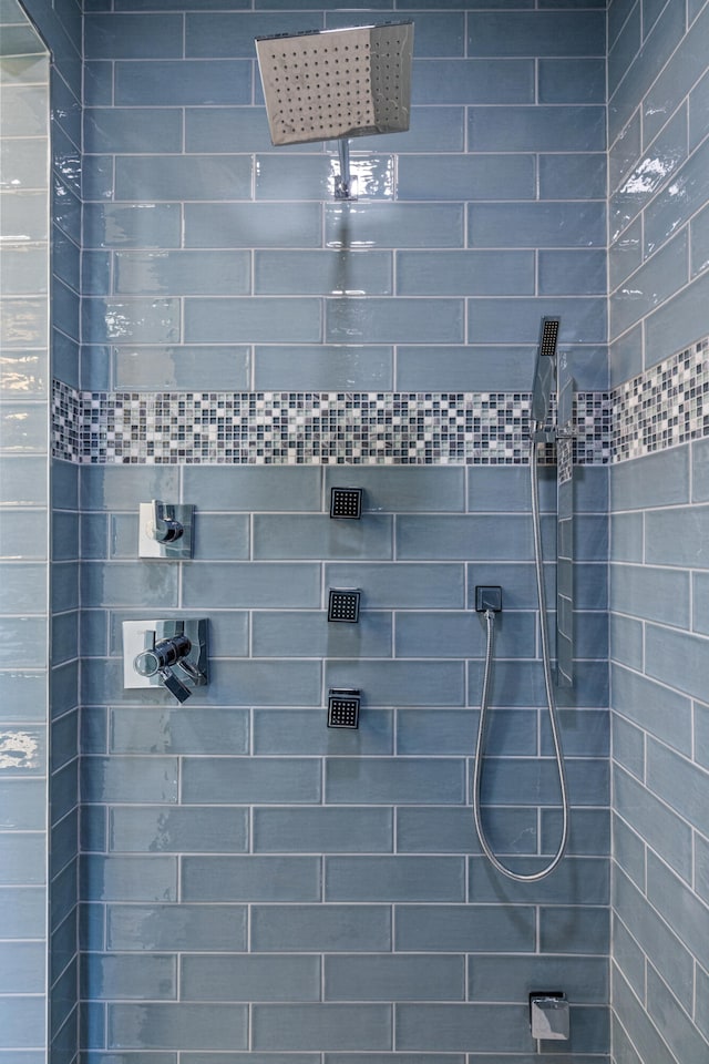
<svg viewBox="0 0 709 1064">
<path fill-rule="evenodd" d="M 81 464 L 516 466 L 522 392 L 90 392 L 54 382 L 53 456 Z M 610 397 L 575 397 L 574 460 L 610 460 Z M 553 462 L 547 447 L 542 460 Z"/>
</svg>

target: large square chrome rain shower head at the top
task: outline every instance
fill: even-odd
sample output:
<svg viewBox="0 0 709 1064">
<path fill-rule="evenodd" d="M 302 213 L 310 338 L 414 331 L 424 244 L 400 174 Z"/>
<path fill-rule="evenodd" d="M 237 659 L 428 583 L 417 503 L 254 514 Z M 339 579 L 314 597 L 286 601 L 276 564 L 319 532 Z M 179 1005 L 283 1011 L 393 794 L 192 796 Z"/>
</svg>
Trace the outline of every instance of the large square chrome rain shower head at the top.
<svg viewBox="0 0 709 1064">
<path fill-rule="evenodd" d="M 413 22 L 256 38 L 274 144 L 409 129 Z"/>
</svg>

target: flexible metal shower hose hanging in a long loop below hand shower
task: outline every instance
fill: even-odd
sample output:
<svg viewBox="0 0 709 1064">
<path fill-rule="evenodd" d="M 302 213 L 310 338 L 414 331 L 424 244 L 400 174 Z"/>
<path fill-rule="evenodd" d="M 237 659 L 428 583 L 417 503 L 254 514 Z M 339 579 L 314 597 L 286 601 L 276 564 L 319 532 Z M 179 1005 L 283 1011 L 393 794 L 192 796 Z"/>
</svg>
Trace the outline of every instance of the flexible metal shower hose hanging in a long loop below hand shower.
<svg viewBox="0 0 709 1064">
<path fill-rule="evenodd" d="M 473 774 L 473 819 L 480 845 L 487 860 L 506 876 L 507 879 L 514 879 L 518 883 L 535 883 L 541 879 L 546 879 L 564 857 L 566 843 L 568 840 L 568 788 L 566 785 L 566 768 L 564 766 L 564 754 L 562 750 L 562 740 L 558 727 L 558 717 L 556 712 L 556 700 L 554 698 L 554 686 L 552 682 L 552 664 L 549 657 L 549 636 L 546 623 L 546 595 L 544 593 L 544 564 L 542 559 L 542 529 L 540 521 L 540 491 L 538 491 L 538 468 L 537 468 L 537 426 L 532 424 L 530 436 L 530 474 L 532 480 L 532 524 L 534 529 L 534 569 L 536 574 L 536 594 L 540 607 L 540 631 L 542 638 L 542 664 L 544 671 L 544 687 L 546 690 L 546 706 L 549 715 L 549 725 L 552 728 L 552 739 L 554 743 L 554 755 L 556 757 L 556 767 L 558 771 L 558 782 L 562 805 L 562 835 L 558 849 L 548 864 L 540 869 L 538 872 L 527 874 L 514 872 L 495 857 L 492 847 L 487 840 L 485 828 L 482 821 L 481 812 L 481 790 L 482 790 L 482 764 L 484 756 L 485 730 L 489 716 L 490 704 L 490 681 L 492 677 L 492 664 L 495 647 L 495 614 L 492 610 L 485 610 L 484 617 L 487 630 L 487 640 L 485 645 L 485 671 L 483 675 L 483 690 L 480 700 L 480 722 L 477 724 L 477 738 L 475 741 L 475 768 Z"/>
</svg>

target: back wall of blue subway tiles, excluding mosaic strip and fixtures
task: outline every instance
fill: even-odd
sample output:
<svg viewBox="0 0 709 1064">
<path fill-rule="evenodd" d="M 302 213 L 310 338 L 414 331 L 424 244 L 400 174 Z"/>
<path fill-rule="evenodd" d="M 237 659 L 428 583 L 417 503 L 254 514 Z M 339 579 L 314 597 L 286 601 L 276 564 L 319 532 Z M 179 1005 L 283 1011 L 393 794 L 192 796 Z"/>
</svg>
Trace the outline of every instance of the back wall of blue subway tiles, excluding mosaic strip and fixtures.
<svg viewBox="0 0 709 1064">
<path fill-rule="evenodd" d="M 83 389 L 526 392 L 556 313 L 606 386 L 603 4 L 113 7 L 85 18 Z M 270 147 L 253 38 L 409 17 L 411 132 L 354 143 L 337 204 L 332 145 Z M 579 471 L 571 855 L 526 889 L 467 800 L 500 583 L 491 830 L 524 868 L 554 850 L 525 467 L 80 477 L 84 1064 L 527 1064 L 534 989 L 573 1002 L 567 1058 L 606 1061 L 607 470 Z M 331 521 L 353 482 L 364 515 Z M 151 498 L 197 507 L 194 561 L 136 560 Z M 212 633 L 184 707 L 122 686 L 121 622 L 178 611 Z"/>
</svg>

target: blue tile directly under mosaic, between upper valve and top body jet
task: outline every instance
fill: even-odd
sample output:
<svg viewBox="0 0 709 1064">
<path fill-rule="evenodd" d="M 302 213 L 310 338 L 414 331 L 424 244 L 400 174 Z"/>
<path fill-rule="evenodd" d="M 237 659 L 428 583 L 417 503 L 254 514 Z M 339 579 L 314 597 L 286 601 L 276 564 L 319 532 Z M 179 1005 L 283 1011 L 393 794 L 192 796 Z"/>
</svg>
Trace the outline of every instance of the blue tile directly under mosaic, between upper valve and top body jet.
<svg viewBox="0 0 709 1064">
<path fill-rule="evenodd" d="M 136 470 L 131 470 L 135 474 Z M 321 473 L 317 467 L 284 469 L 212 468 L 183 471 L 185 499 L 212 511 L 304 511 L 320 512 Z M 165 492 L 165 489 L 163 489 Z M 157 498 L 164 498 L 157 494 Z M 130 509 L 130 508 L 126 508 Z M 300 571 L 300 570 L 299 570 Z M 239 580 L 246 573 L 239 574 Z M 316 602 L 308 604 L 316 605 Z M 233 603 L 233 605 L 235 605 Z M 300 605 L 306 605 L 301 602 Z"/>
</svg>

